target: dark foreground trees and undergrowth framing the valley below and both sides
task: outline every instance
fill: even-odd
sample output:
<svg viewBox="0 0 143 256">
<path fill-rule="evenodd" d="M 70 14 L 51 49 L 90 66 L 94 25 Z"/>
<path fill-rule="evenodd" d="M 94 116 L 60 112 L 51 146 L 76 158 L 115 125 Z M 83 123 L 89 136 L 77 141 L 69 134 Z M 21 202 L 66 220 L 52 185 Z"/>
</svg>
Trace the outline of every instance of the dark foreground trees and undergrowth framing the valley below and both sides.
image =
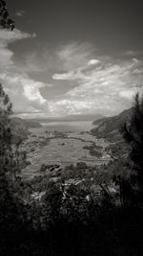
<svg viewBox="0 0 143 256">
<path fill-rule="evenodd" d="M 56 181 L 41 171 L 24 182 L 10 99 L 0 87 L 0 255 L 143 254 L 142 106 L 136 97 L 122 128 L 126 155 L 101 168 L 67 167 Z"/>
</svg>

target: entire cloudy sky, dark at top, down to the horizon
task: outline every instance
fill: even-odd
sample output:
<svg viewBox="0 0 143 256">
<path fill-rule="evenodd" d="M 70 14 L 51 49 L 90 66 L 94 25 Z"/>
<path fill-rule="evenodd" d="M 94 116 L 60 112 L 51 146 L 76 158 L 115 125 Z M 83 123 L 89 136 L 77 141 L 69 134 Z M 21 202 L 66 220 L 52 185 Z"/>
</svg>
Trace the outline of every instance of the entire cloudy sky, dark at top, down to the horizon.
<svg viewBox="0 0 143 256">
<path fill-rule="evenodd" d="M 114 115 L 143 90 L 140 0 L 7 0 L 0 82 L 23 118 Z"/>
</svg>

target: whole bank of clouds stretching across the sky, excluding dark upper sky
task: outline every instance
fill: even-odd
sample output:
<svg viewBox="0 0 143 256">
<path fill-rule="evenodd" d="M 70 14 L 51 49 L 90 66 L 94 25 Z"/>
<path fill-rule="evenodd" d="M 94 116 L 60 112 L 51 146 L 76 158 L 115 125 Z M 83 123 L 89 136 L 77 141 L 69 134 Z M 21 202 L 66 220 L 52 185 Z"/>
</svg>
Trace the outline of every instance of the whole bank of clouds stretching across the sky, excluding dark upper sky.
<svg viewBox="0 0 143 256">
<path fill-rule="evenodd" d="M 141 57 L 107 57 L 90 43 L 72 42 L 16 62 L 9 44 L 35 35 L 16 30 L 0 36 L 0 80 L 23 117 L 115 114 L 132 105 L 136 91 L 143 91 Z"/>
</svg>

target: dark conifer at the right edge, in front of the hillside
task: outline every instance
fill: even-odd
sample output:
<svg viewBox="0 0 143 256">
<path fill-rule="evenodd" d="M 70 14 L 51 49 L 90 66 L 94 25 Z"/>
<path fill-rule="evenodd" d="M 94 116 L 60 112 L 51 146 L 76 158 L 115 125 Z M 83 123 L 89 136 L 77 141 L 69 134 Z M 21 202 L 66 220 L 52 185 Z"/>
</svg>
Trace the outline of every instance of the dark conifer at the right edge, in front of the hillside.
<svg viewBox="0 0 143 256">
<path fill-rule="evenodd" d="M 121 130 L 124 139 L 130 145 L 130 158 L 133 163 L 133 181 L 137 184 L 139 194 L 143 194 L 143 98 L 135 95 L 133 115 L 130 123 Z"/>
</svg>

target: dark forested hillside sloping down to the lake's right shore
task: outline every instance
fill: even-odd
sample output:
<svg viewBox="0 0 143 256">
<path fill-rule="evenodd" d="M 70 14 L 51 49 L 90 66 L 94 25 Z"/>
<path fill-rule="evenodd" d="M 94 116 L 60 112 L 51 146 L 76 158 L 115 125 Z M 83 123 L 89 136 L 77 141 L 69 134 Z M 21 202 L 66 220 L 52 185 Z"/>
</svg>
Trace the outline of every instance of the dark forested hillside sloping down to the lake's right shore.
<svg viewBox="0 0 143 256">
<path fill-rule="evenodd" d="M 120 114 L 112 117 L 105 117 L 98 119 L 93 122 L 93 125 L 96 126 L 92 128 L 91 132 L 97 137 L 106 137 L 114 138 L 119 136 L 119 128 L 127 122 L 130 121 L 133 113 L 133 107 L 126 109 Z"/>
</svg>

